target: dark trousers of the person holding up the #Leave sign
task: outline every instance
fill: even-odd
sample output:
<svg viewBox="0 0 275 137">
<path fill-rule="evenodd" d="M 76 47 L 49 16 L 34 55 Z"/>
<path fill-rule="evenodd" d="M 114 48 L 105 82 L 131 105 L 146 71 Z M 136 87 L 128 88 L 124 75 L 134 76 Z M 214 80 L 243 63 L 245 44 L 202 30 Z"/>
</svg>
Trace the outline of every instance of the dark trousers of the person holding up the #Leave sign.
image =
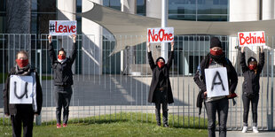
<svg viewBox="0 0 275 137">
<path fill-rule="evenodd" d="M 72 87 L 55 87 L 55 103 L 57 123 L 61 123 L 61 110 L 63 107 L 63 124 L 67 124 L 69 105 L 73 94 Z"/>
</svg>

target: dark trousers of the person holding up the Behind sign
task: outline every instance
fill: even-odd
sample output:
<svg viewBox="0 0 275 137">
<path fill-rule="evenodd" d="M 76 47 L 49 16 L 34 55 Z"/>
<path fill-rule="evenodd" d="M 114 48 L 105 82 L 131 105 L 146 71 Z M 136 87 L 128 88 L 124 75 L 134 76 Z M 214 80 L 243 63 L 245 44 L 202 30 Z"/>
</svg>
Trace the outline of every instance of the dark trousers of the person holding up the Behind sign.
<svg viewBox="0 0 275 137">
<path fill-rule="evenodd" d="M 257 126 L 257 108 L 259 103 L 259 94 L 248 96 L 246 94 L 242 95 L 243 103 L 243 126 L 248 126 L 248 113 L 249 105 L 252 104 L 252 117 L 253 117 L 253 126 Z"/>
</svg>

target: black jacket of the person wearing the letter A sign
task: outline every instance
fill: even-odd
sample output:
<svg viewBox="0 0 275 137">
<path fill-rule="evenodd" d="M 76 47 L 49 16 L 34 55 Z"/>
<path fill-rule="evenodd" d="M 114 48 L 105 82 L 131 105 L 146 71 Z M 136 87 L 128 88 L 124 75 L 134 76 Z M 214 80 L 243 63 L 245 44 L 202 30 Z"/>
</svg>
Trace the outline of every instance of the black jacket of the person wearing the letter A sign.
<svg viewBox="0 0 275 137">
<path fill-rule="evenodd" d="M 207 91 L 206 82 L 205 82 L 205 72 L 204 71 L 205 71 L 206 68 L 208 68 L 210 59 L 211 59 L 211 57 L 208 54 L 208 56 L 205 57 L 205 59 L 203 59 L 200 62 L 200 65 L 198 66 L 198 70 L 195 73 L 194 78 L 193 78 L 195 83 L 200 88 L 199 95 L 197 96 L 197 107 L 200 108 L 200 110 L 202 108 L 202 102 L 203 102 L 203 99 L 204 99 L 203 93 L 205 91 Z M 231 61 L 226 57 L 224 57 L 224 59 L 222 61 L 222 65 L 224 67 L 226 67 L 226 70 L 227 70 L 229 92 L 235 93 L 235 89 L 238 85 L 237 72 L 236 72 L 235 68 L 233 67 Z"/>
</svg>

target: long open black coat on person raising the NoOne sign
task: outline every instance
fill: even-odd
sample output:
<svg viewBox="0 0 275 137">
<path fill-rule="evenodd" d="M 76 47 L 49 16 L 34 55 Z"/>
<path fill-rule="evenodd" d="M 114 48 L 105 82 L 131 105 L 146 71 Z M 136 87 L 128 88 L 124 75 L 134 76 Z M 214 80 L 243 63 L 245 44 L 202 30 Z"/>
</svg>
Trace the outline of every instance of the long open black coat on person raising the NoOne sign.
<svg viewBox="0 0 275 137">
<path fill-rule="evenodd" d="M 172 88 L 169 80 L 169 69 L 172 66 L 172 60 L 174 57 L 174 51 L 170 51 L 169 59 L 167 61 L 167 64 L 165 64 L 161 69 L 154 63 L 152 52 L 148 52 L 148 61 L 150 68 L 152 70 L 153 78 L 150 85 L 149 95 L 148 95 L 148 102 L 149 103 L 155 103 L 153 98 L 153 92 L 156 90 L 158 83 L 159 83 L 159 76 L 161 71 L 164 73 L 164 79 L 167 80 L 167 97 L 168 97 L 168 103 L 174 103 L 173 94 L 172 94 Z"/>
</svg>

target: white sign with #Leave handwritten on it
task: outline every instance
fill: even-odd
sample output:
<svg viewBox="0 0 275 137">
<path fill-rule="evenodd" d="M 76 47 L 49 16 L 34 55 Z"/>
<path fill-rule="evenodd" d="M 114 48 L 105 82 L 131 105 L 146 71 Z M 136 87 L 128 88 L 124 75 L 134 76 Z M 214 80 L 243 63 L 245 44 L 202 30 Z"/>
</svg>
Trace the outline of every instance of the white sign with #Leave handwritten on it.
<svg viewBox="0 0 275 137">
<path fill-rule="evenodd" d="M 51 35 L 72 35 L 76 34 L 76 21 L 50 20 L 49 34 Z"/>
</svg>

